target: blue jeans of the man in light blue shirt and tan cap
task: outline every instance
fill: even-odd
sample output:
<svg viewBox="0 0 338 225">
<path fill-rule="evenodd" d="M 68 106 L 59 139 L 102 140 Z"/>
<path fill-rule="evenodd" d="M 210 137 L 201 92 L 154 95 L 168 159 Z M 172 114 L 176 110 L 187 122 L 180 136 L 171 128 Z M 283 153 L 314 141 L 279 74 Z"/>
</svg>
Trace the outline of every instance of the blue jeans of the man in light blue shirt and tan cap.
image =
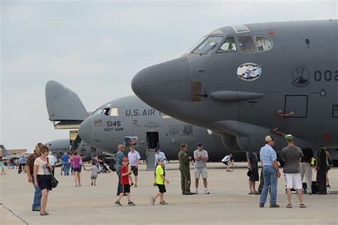
<svg viewBox="0 0 338 225">
<path fill-rule="evenodd" d="M 270 186 L 270 204 L 276 204 L 278 179 L 276 169 L 273 166 L 264 166 L 263 175 L 264 186 L 262 189 L 262 194 L 260 195 L 260 204 L 265 204 L 265 202 L 267 202 L 267 192 L 269 191 Z"/>
</svg>

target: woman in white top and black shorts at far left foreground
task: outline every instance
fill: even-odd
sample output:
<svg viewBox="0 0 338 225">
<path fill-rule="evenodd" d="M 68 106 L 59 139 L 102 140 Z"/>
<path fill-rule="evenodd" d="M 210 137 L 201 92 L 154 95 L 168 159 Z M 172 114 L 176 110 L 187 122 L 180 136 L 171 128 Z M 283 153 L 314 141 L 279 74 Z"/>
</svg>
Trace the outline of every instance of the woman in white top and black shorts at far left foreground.
<svg viewBox="0 0 338 225">
<path fill-rule="evenodd" d="M 51 164 L 47 163 L 48 147 L 43 145 L 40 148 L 41 157 L 34 161 L 34 186 L 39 187 L 42 192 L 41 197 L 41 216 L 48 215 L 46 211 L 48 192 L 51 190 Z M 48 169 L 49 167 L 49 169 Z"/>
</svg>

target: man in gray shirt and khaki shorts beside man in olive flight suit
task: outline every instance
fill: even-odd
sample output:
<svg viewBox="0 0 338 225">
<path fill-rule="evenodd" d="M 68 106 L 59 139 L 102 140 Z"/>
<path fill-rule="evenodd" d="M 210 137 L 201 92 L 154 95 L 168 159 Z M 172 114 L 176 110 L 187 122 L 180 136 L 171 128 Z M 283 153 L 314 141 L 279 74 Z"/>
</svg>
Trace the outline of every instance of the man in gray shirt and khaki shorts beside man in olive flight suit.
<svg viewBox="0 0 338 225">
<path fill-rule="evenodd" d="M 203 144 L 198 143 L 198 149 L 194 151 L 194 159 L 195 159 L 195 194 L 198 194 L 198 183 L 200 181 L 200 174 L 202 174 L 203 184 L 205 194 L 210 194 L 208 191 L 208 169 L 207 169 L 207 161 L 208 161 L 208 152 L 203 150 Z"/>
</svg>

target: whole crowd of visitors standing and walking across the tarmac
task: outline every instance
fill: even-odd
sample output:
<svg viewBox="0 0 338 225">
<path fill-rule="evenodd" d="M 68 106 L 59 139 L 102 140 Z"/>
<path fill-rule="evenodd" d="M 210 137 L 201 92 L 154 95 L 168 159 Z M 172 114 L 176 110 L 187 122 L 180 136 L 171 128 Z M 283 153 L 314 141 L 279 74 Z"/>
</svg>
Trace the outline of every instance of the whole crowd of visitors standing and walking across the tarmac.
<svg viewBox="0 0 338 225">
<path fill-rule="evenodd" d="M 287 208 L 292 208 L 291 196 L 292 189 L 295 189 L 299 199 L 299 207 L 305 208 L 302 194 L 312 194 L 312 158 L 314 157 L 312 150 L 301 150 L 294 143 L 294 137 L 287 135 L 287 146 L 282 149 L 282 159 L 285 162 L 283 172 L 286 180 L 286 193 L 287 193 Z M 273 149 L 275 145 L 275 139 L 272 136 L 265 137 L 265 146 L 263 146 L 259 152 L 260 162 L 262 164 L 261 176 L 258 171 L 258 157 L 255 152 L 247 152 L 247 164 L 249 171 L 247 176 L 249 177 L 249 193 L 248 194 L 260 194 L 259 206 L 264 207 L 267 202 L 267 194 L 270 190 L 270 208 L 280 207 L 277 204 L 277 181 L 281 177 L 279 164 L 277 162 L 277 154 Z M 115 204 L 122 206 L 121 199 L 126 196 L 128 199 L 128 206 L 135 206 L 135 203 L 131 201 L 130 187 L 138 187 L 138 167 L 140 164 L 140 154 L 135 150 L 134 146 L 129 147 L 128 155 L 124 154 L 125 146 L 118 145 L 118 152 L 116 152 L 116 163 L 114 167 L 116 174 L 118 175 L 117 186 L 117 199 Z M 188 154 L 188 145 L 181 144 L 180 152 L 178 152 L 179 170 L 181 191 L 184 195 L 199 194 L 199 182 L 200 177 L 203 179 L 204 194 L 210 194 L 208 190 L 208 151 L 204 149 L 202 143 L 198 143 L 197 150 L 193 152 L 193 157 Z M 74 173 L 75 187 L 81 187 L 81 169 L 83 167 L 86 171 L 91 171 L 91 185 L 96 186 L 96 179 L 99 173 L 99 159 L 94 157 L 90 168 L 86 168 L 82 162 L 81 157 L 77 151 L 72 153 L 65 153 L 62 157 L 62 169 L 65 176 L 69 175 L 69 169 L 72 168 Z M 191 178 L 190 178 L 190 162 L 195 161 L 195 192 L 190 191 Z M 150 197 L 150 204 L 155 205 L 155 200 L 160 197 L 159 204 L 165 205 L 168 202 L 164 200 L 164 194 L 166 192 L 165 183 L 169 184 L 168 178 L 165 176 L 165 158 L 164 152 L 161 152 L 159 148 L 155 149 L 155 174 L 154 174 L 154 186 L 158 187 L 152 197 Z M 232 155 L 227 155 L 222 159 L 222 163 L 226 165 L 226 171 L 232 171 L 230 164 L 233 162 Z M 18 163 L 19 164 L 19 163 Z M 56 157 L 54 157 L 48 150 L 46 145 L 42 143 L 36 144 L 34 153 L 29 155 L 26 160 L 21 159 L 21 166 L 24 164 L 23 171 L 27 174 L 28 181 L 34 186 L 34 201 L 31 206 L 32 211 L 39 211 L 41 216 L 48 215 L 46 206 L 48 202 L 48 194 L 51 191 L 51 179 L 54 175 L 56 167 Z M 329 188 L 329 179 L 327 172 L 329 167 L 332 167 L 332 159 L 329 156 L 329 152 L 324 148 L 319 148 L 317 152 L 317 164 L 315 170 L 317 171 L 317 194 L 327 194 L 327 188 Z M 1 161 L 1 174 L 4 173 L 4 167 L 6 166 L 5 160 Z M 9 165 L 11 166 L 11 165 Z M 19 167 L 19 165 L 18 165 Z M 62 173 L 62 172 L 61 172 Z M 304 184 L 302 179 L 306 179 L 307 189 L 304 191 Z M 258 191 L 255 187 L 255 182 L 260 180 L 260 187 Z M 135 182 L 134 182 L 135 181 Z"/>
</svg>

